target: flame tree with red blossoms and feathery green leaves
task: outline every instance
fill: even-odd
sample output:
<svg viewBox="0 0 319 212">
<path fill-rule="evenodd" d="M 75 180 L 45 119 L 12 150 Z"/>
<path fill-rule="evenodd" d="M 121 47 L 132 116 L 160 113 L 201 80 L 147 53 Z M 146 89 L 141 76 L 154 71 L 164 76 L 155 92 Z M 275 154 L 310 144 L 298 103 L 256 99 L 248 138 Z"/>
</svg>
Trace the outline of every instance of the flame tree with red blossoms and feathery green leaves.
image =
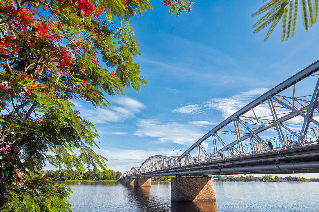
<svg viewBox="0 0 319 212">
<path fill-rule="evenodd" d="M 179 16 L 193 1 L 162 3 Z M 148 9 L 148 0 L 0 1 L 1 211 L 72 210 L 70 187 L 34 174 L 45 163 L 107 171 L 90 148 L 98 147 L 96 129 L 70 100 L 105 107 L 104 94 L 147 83 L 129 20 Z"/>
</svg>

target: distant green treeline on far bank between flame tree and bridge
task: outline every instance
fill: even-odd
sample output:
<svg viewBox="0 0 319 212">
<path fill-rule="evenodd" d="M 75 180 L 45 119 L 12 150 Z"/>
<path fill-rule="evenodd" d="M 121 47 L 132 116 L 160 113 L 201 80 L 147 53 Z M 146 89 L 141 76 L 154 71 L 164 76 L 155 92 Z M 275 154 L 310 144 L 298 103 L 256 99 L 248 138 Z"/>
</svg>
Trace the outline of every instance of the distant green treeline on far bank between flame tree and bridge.
<svg viewBox="0 0 319 212">
<path fill-rule="evenodd" d="M 109 169 L 107 172 L 95 171 L 87 171 L 84 174 L 78 171 L 72 170 L 48 170 L 45 172 L 46 177 L 50 177 L 52 180 L 116 180 L 121 177 L 122 173 L 118 171 L 114 171 Z"/>
</svg>

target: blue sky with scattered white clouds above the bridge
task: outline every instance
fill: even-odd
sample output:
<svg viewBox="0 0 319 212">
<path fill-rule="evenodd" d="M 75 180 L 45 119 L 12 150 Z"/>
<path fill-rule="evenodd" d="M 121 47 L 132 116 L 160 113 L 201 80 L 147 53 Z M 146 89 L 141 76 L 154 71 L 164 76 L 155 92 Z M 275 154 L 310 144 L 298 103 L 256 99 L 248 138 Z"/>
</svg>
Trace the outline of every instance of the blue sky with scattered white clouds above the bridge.
<svg viewBox="0 0 319 212">
<path fill-rule="evenodd" d="M 318 24 L 306 33 L 299 19 L 295 36 L 283 43 L 281 26 L 267 42 L 267 30 L 253 34 L 258 17 L 250 15 L 262 0 L 197 0 L 179 18 L 159 0 L 151 3 L 153 10 L 130 22 L 141 41 L 136 62 L 145 88 L 107 97 L 109 108 L 74 101 L 98 129 L 96 151 L 110 169 L 125 172 L 149 156 L 185 151 L 239 105 L 318 60 Z M 213 152 L 211 144 L 205 148 Z"/>
</svg>

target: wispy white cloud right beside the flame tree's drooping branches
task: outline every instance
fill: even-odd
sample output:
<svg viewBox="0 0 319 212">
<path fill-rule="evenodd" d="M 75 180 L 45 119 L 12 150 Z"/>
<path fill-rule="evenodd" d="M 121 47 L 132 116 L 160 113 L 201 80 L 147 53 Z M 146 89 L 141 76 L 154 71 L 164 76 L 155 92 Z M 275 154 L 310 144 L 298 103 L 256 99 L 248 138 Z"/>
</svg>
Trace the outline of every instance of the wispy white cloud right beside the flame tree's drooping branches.
<svg viewBox="0 0 319 212">
<path fill-rule="evenodd" d="M 86 108 L 80 102 L 73 102 L 75 109 L 80 110 L 80 116 L 88 119 L 93 124 L 105 124 L 110 122 L 122 122 L 126 119 L 134 118 L 136 113 L 140 113 L 145 109 L 145 105 L 130 97 L 118 97 L 113 100 L 118 106 L 110 106 L 108 109 Z"/>
</svg>

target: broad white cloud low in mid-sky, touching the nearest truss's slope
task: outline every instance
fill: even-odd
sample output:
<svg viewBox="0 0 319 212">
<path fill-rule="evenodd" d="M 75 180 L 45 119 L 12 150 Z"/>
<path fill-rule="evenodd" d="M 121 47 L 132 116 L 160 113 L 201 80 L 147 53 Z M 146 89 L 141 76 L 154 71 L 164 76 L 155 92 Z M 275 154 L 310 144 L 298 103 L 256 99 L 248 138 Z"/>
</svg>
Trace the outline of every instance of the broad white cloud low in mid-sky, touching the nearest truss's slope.
<svg viewBox="0 0 319 212">
<path fill-rule="evenodd" d="M 157 138 L 160 142 L 172 142 L 177 144 L 193 144 L 204 133 L 189 124 L 176 122 L 162 123 L 157 120 L 140 119 L 137 121 L 137 136 L 149 136 Z"/>
</svg>

